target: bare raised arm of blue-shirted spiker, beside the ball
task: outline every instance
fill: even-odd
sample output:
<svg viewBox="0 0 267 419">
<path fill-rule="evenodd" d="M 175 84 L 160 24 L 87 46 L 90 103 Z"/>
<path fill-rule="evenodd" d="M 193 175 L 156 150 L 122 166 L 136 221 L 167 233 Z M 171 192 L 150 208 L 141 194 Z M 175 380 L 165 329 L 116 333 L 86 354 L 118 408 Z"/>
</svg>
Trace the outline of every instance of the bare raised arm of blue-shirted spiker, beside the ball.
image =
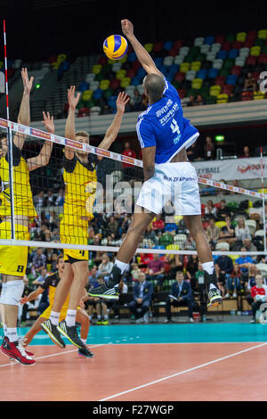
<svg viewBox="0 0 267 419">
<path fill-rule="evenodd" d="M 139 62 L 142 65 L 142 68 L 146 70 L 148 74 L 155 73 L 159 76 L 163 74 L 157 69 L 155 62 L 150 57 L 150 54 L 145 50 L 145 48 L 140 44 L 140 42 L 134 37 L 134 25 L 131 21 L 124 19 L 121 21 L 121 28 L 125 35 L 128 38 L 128 41 L 133 45 L 134 52 L 137 55 Z"/>
</svg>

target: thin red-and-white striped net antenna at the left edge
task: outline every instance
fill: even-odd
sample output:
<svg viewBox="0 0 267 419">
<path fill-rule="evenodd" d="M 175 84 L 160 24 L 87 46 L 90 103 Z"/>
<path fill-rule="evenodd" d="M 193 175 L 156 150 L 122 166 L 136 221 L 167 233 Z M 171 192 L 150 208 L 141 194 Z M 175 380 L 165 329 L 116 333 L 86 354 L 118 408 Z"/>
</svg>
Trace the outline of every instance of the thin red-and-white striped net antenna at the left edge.
<svg viewBox="0 0 267 419">
<path fill-rule="evenodd" d="M 8 96 L 8 75 L 7 75 L 7 53 L 6 53 L 6 31 L 4 20 L 4 74 L 5 74 L 5 102 L 6 102 L 6 119 L 7 119 L 7 143 L 8 143 L 8 161 L 9 161 L 9 187 L 11 197 L 11 218 L 12 230 L 11 239 L 15 240 L 15 216 L 14 216 L 14 195 L 13 195 L 13 156 L 12 156 L 12 127 L 9 117 L 9 96 Z"/>
</svg>

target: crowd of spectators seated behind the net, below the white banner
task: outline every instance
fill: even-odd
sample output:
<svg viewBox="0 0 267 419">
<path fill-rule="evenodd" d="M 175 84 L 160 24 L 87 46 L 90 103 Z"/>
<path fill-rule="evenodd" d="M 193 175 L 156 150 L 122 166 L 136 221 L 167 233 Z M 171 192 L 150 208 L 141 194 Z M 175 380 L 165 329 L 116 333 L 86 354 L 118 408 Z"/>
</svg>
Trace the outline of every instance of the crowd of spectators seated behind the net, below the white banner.
<svg viewBox="0 0 267 419">
<path fill-rule="evenodd" d="M 43 200 L 43 205 L 44 201 L 48 202 L 48 205 L 42 209 L 38 208 L 40 218 L 36 218 L 30 225 L 31 238 L 35 241 L 60 242 L 61 211 L 57 211 L 55 205 L 57 197 L 52 193 L 47 195 L 39 193 L 38 195 L 38 200 L 35 200 L 36 209 L 40 205 L 40 198 Z M 263 251 L 263 214 L 257 211 L 256 206 L 255 211 L 257 212 L 248 211 L 247 201 L 241 201 L 239 207 L 233 209 L 231 196 L 229 201 L 227 198 L 219 202 L 209 199 L 206 204 L 202 204 L 203 226 L 213 251 L 236 252 L 235 256 L 214 255 L 217 281 L 224 299 L 237 299 L 239 304 L 241 293 L 247 296 L 248 303 L 253 305 L 255 300 L 251 300 L 251 290 L 256 284 L 255 276 L 263 275 L 263 284 L 267 283 L 267 259 L 258 255 L 250 256 L 247 252 Z M 267 216 L 267 205 L 265 205 L 265 214 Z M 125 213 L 94 213 L 94 218 L 88 227 L 88 244 L 119 245 L 125 237 L 131 217 L 131 214 Z M 174 215 L 166 215 L 165 212 L 158 215 L 143 234 L 139 247 L 160 249 L 162 253 L 137 255 L 125 275 L 125 292 L 134 292 L 133 295 L 135 295 L 132 302 L 127 301 L 134 319 L 137 322 L 144 318 L 148 321 L 152 295 L 155 292 L 168 292 L 166 295 L 166 322 L 171 321 L 171 308 L 183 305 L 189 309 L 189 319 L 193 321 L 192 309 L 196 295 L 198 302 L 202 296 L 199 310 L 201 317 L 205 318 L 204 272 L 198 257 L 195 255 L 169 255 L 164 252 L 165 249 L 196 250 L 195 242 L 183 219 L 175 218 Z M 29 287 L 35 287 L 44 282 L 46 275 L 55 272 L 56 260 L 60 254 L 61 250 L 52 248 L 37 248 L 29 251 L 27 269 Z M 113 267 L 114 258 L 115 253 L 112 252 L 89 252 L 88 288 L 98 286 L 99 283 L 107 279 Z M 180 283 L 182 283 L 181 290 Z M 190 287 L 184 283 L 189 283 Z M 138 296 L 140 292 L 142 297 Z M 147 302 L 143 305 L 144 295 Z M 91 299 L 86 303 L 90 316 L 93 315 L 93 309 L 95 309 L 99 325 L 108 324 L 111 306 L 118 318 L 120 316 L 119 308 L 110 302 Z"/>
</svg>

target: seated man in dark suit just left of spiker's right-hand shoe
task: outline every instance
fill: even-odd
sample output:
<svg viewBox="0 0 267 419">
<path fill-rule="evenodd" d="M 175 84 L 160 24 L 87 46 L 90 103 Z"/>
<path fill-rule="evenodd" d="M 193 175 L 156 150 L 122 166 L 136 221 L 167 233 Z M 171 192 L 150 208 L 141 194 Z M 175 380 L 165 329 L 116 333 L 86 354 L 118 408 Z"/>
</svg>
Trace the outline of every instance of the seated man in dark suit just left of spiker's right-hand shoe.
<svg viewBox="0 0 267 419">
<path fill-rule="evenodd" d="M 188 307 L 189 319 L 193 322 L 193 297 L 190 283 L 184 281 L 182 272 L 177 272 L 175 282 L 172 285 L 171 292 L 166 300 L 166 323 L 172 321 L 173 307 Z"/>
</svg>

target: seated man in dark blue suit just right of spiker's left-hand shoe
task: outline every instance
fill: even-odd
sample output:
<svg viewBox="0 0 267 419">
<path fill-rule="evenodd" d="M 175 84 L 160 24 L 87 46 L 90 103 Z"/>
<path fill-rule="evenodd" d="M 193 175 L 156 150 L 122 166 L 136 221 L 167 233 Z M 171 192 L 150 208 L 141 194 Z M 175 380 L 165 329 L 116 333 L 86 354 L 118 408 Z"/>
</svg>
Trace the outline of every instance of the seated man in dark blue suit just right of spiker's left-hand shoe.
<svg viewBox="0 0 267 419">
<path fill-rule="evenodd" d="M 146 275 L 140 273 L 138 283 L 134 283 L 134 300 L 128 304 L 137 323 L 149 311 L 152 300 L 153 286 L 146 281 Z"/>
</svg>

